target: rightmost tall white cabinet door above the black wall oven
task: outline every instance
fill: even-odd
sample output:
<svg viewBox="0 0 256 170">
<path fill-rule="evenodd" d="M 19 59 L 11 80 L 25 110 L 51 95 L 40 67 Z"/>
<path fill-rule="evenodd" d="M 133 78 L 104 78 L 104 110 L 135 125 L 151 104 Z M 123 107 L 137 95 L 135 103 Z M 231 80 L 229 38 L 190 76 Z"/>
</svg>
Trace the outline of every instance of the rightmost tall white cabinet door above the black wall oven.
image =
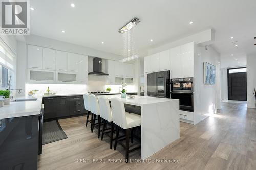
<svg viewBox="0 0 256 170">
<path fill-rule="evenodd" d="M 181 46 L 181 74 L 182 77 L 194 76 L 194 44 L 193 42 Z"/>
</svg>

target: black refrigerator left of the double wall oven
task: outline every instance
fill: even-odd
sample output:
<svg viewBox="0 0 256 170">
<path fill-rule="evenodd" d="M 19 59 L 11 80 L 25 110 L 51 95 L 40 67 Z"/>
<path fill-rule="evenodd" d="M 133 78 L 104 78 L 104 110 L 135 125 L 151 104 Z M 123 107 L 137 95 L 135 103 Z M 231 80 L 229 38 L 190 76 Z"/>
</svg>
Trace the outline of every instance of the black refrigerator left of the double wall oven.
<svg viewBox="0 0 256 170">
<path fill-rule="evenodd" d="M 147 74 L 147 96 L 170 98 L 170 71 Z"/>
</svg>

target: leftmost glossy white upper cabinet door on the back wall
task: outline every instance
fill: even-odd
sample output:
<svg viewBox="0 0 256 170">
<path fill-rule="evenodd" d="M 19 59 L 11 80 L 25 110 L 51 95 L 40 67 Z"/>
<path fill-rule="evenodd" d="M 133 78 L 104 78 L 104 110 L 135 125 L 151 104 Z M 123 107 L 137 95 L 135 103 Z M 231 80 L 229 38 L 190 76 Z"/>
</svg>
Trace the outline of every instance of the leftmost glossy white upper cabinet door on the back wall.
<svg viewBox="0 0 256 170">
<path fill-rule="evenodd" d="M 28 45 L 28 68 L 42 69 L 42 47 Z"/>
</svg>

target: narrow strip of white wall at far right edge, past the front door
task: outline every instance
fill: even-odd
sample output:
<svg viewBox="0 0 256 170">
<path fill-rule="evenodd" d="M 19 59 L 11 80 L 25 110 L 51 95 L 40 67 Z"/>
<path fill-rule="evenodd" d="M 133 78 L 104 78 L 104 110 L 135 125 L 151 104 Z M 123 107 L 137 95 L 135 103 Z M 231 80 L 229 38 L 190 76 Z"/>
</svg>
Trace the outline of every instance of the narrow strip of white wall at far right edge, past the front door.
<svg viewBox="0 0 256 170">
<path fill-rule="evenodd" d="M 256 88 L 256 54 L 247 55 L 247 107 L 255 108 L 255 98 L 252 94 Z"/>
</svg>

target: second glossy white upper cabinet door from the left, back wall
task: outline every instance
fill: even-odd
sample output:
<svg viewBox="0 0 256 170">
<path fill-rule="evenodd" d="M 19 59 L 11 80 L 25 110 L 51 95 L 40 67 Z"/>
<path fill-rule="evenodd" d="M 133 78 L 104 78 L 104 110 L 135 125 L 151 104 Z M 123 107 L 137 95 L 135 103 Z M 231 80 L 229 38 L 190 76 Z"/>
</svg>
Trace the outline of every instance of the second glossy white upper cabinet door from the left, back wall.
<svg viewBox="0 0 256 170">
<path fill-rule="evenodd" d="M 42 49 L 42 69 L 55 70 L 56 55 L 55 50 L 49 48 Z"/>
</svg>

